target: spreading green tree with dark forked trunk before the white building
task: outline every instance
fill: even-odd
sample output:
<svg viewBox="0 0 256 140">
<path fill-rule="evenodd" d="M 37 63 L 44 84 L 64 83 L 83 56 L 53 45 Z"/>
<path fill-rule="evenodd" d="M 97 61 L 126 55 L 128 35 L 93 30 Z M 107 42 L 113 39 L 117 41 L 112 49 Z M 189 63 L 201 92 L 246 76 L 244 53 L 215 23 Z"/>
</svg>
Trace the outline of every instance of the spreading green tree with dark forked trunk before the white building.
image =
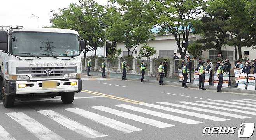
<svg viewBox="0 0 256 140">
<path fill-rule="evenodd" d="M 177 42 L 181 58 L 188 49 L 192 24 L 198 22 L 207 5 L 207 0 L 150 0 L 142 15 L 160 26 L 160 34 L 172 34 Z M 150 18 L 149 18 L 150 17 Z"/>
</svg>

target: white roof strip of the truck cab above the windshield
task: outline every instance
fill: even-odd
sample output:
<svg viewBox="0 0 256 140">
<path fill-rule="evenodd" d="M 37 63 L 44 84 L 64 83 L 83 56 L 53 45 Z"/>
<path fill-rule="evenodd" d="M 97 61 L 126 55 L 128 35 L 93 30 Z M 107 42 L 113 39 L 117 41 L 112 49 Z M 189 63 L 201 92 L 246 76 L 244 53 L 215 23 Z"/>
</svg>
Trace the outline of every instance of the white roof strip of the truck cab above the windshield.
<svg viewBox="0 0 256 140">
<path fill-rule="evenodd" d="M 78 32 L 70 29 L 58 29 L 58 28 L 21 28 L 11 29 L 10 31 L 32 31 L 32 32 L 50 32 L 50 33 L 71 33 L 78 35 Z"/>
</svg>

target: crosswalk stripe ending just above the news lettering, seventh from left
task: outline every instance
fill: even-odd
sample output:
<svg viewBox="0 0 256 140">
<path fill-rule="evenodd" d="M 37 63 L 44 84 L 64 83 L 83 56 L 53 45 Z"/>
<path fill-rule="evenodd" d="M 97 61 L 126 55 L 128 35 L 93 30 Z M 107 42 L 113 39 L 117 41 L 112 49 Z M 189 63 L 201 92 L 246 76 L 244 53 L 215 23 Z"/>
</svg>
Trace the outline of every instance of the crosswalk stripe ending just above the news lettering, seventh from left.
<svg viewBox="0 0 256 140">
<path fill-rule="evenodd" d="M 210 116 L 210 115 L 205 115 L 205 114 L 200 114 L 200 113 L 195 113 L 195 112 L 189 112 L 189 111 L 183 111 L 183 110 L 174 109 L 174 108 L 170 108 L 170 107 L 164 107 L 164 106 L 160 106 L 160 105 L 147 104 L 147 103 L 141 103 L 139 105 L 144 105 L 144 106 L 147 106 L 147 107 L 153 107 L 153 108 L 156 108 L 156 109 L 175 112 L 175 113 L 184 114 L 184 115 L 188 115 L 188 116 L 193 116 L 193 117 L 198 117 L 198 118 L 203 118 L 203 119 L 209 119 L 209 120 L 212 120 L 212 121 L 227 121 L 227 120 L 229 120 L 229 119 L 219 118 L 219 117 L 215 117 L 215 116 Z"/>
</svg>

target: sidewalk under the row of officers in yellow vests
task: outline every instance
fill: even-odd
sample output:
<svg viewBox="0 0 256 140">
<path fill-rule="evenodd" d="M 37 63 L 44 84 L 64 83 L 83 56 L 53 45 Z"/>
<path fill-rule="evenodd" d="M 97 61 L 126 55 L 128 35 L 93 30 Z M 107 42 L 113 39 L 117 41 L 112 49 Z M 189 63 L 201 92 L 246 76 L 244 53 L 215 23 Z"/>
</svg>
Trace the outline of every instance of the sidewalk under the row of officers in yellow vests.
<svg viewBox="0 0 256 140">
<path fill-rule="evenodd" d="M 87 71 L 82 71 L 82 73 L 87 74 Z M 90 71 L 90 75 L 93 76 L 102 76 L 102 72 L 98 72 L 98 71 Z M 107 73 L 105 74 L 106 77 L 110 77 L 110 78 L 118 78 L 118 79 L 122 79 L 122 75 L 123 73 L 109 73 L 109 75 L 107 75 Z M 140 81 L 141 80 L 141 75 L 134 75 L 134 74 L 126 74 L 126 78 L 128 80 L 136 80 L 136 81 Z M 144 76 L 144 81 L 146 82 L 150 82 L 150 83 L 159 83 L 159 81 L 157 80 L 156 77 L 154 76 Z M 165 78 L 164 83 L 166 85 L 175 85 L 175 86 L 181 86 L 181 82 L 179 82 L 178 78 Z M 198 85 L 193 84 L 193 80 L 192 83 L 187 83 L 187 85 L 189 87 L 193 87 L 193 88 L 198 88 Z M 223 87 L 222 90 L 224 92 L 235 92 L 235 93 L 249 93 L 249 94 L 256 94 L 256 91 L 251 91 L 251 90 L 241 90 L 241 89 L 237 89 L 236 87 L 234 87 L 235 84 L 231 84 L 231 87 Z M 205 86 L 206 89 L 210 89 L 210 90 L 217 90 L 217 86 Z"/>
</svg>

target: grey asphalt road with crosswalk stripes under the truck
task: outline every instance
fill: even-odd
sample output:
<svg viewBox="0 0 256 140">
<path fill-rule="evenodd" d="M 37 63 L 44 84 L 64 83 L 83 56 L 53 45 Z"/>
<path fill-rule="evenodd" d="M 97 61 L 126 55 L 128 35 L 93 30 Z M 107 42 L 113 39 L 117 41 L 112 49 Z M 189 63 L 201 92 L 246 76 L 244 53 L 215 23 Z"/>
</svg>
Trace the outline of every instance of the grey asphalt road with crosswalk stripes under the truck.
<svg viewBox="0 0 256 140">
<path fill-rule="evenodd" d="M 256 124 L 255 95 L 83 79 L 73 104 L 60 97 L 17 99 L 8 109 L 0 103 L 0 140 L 256 140 L 256 130 L 250 138 L 237 135 L 240 124 Z M 237 128 L 202 134 L 206 126 Z"/>
</svg>

